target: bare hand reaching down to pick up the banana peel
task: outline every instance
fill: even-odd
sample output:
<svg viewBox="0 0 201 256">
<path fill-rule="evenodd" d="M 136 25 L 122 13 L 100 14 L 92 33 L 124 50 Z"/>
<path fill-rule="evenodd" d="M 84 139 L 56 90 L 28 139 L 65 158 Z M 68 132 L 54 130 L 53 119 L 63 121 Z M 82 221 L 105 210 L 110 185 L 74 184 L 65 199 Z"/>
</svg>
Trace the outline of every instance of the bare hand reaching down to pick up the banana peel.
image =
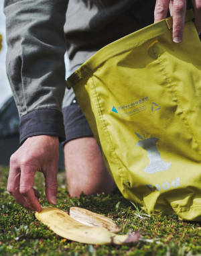
<svg viewBox="0 0 201 256">
<path fill-rule="evenodd" d="M 46 198 L 56 204 L 59 140 L 56 136 L 33 136 L 27 138 L 11 155 L 7 190 L 21 206 L 42 210 L 39 192 L 33 188 L 36 171 L 44 173 Z"/>
</svg>

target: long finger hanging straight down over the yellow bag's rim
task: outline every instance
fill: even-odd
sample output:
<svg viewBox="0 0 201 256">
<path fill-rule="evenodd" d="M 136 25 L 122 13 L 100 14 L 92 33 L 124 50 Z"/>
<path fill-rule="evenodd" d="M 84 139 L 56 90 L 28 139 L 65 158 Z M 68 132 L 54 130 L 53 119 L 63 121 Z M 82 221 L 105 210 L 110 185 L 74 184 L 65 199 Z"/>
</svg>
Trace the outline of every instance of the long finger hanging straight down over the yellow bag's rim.
<svg viewBox="0 0 201 256">
<path fill-rule="evenodd" d="M 172 7 L 173 15 L 173 41 L 182 42 L 184 23 L 186 16 L 186 0 L 174 0 Z"/>
</svg>

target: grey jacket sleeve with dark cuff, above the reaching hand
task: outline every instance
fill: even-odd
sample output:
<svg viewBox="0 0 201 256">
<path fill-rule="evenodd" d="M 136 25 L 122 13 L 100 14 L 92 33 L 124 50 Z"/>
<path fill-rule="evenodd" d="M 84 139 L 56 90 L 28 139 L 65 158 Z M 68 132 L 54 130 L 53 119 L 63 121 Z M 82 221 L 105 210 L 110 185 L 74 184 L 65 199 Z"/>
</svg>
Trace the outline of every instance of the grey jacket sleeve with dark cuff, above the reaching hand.
<svg viewBox="0 0 201 256">
<path fill-rule="evenodd" d="M 40 134 L 64 140 L 64 23 L 68 0 L 5 0 L 7 76 L 20 116 L 20 143 Z"/>
</svg>

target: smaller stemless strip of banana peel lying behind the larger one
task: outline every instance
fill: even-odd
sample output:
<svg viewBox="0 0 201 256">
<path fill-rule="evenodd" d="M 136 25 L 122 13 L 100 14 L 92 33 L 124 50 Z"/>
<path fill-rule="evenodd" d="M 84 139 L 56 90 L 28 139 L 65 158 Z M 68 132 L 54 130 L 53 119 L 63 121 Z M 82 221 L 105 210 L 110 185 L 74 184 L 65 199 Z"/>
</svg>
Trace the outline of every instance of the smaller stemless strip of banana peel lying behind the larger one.
<svg viewBox="0 0 201 256">
<path fill-rule="evenodd" d="M 87 226 L 102 226 L 113 233 L 121 231 L 119 226 L 117 226 L 117 224 L 115 224 L 110 218 L 96 214 L 95 212 L 90 212 L 84 208 L 71 207 L 70 217 L 82 224 L 86 224 Z"/>
</svg>

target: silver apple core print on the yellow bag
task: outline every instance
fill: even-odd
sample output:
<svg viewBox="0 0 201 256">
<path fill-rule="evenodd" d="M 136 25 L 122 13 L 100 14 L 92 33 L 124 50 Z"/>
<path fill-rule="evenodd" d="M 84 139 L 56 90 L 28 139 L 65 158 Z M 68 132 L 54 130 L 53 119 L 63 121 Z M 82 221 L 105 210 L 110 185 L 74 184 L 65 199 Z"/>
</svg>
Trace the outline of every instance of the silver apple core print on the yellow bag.
<svg viewBox="0 0 201 256">
<path fill-rule="evenodd" d="M 157 150 L 156 142 L 159 140 L 159 138 L 145 138 L 145 136 L 143 138 L 137 132 L 135 132 L 135 134 L 138 138 L 140 138 L 136 145 L 141 146 L 145 149 L 145 151 L 147 151 L 147 155 L 150 160 L 149 165 L 145 167 L 143 171 L 145 171 L 145 173 L 157 173 L 159 171 L 167 171 L 170 169 L 172 163 L 165 163 L 161 159 L 161 155 Z"/>
</svg>

